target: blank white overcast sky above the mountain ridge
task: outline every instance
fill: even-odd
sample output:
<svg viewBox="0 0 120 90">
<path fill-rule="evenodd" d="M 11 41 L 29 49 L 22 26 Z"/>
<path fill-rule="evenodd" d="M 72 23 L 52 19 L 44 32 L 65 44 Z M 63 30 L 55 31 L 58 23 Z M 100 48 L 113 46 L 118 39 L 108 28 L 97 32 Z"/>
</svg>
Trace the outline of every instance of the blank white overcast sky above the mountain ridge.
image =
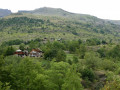
<svg viewBox="0 0 120 90">
<path fill-rule="evenodd" d="M 120 20 L 120 0 L 1 0 L 0 8 L 12 12 L 41 7 L 61 8 L 101 19 Z"/>
</svg>

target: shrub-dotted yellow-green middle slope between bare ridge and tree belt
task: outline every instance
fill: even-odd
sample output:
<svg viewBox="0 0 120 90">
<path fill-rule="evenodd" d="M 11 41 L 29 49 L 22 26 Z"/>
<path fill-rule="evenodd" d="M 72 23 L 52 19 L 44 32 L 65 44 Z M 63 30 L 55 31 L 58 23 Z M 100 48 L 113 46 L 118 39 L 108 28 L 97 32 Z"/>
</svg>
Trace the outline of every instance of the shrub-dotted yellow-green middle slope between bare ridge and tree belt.
<svg viewBox="0 0 120 90">
<path fill-rule="evenodd" d="M 64 40 L 98 38 L 118 41 L 120 37 L 120 26 L 108 22 L 98 24 L 54 16 L 35 15 L 37 18 L 32 18 L 29 15 L 1 19 L 0 41 L 13 39 L 28 41 L 45 37 Z"/>
</svg>

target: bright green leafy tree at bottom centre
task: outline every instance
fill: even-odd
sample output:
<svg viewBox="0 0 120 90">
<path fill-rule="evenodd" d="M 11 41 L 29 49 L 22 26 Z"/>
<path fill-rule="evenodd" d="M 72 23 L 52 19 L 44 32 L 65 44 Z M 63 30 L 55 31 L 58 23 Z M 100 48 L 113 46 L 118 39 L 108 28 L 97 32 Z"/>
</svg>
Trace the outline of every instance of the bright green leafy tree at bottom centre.
<svg viewBox="0 0 120 90">
<path fill-rule="evenodd" d="M 46 74 L 49 76 L 49 85 L 53 87 L 53 90 L 62 89 L 68 67 L 69 64 L 66 62 L 51 62 L 51 68 L 50 70 L 46 71 Z"/>
</svg>

